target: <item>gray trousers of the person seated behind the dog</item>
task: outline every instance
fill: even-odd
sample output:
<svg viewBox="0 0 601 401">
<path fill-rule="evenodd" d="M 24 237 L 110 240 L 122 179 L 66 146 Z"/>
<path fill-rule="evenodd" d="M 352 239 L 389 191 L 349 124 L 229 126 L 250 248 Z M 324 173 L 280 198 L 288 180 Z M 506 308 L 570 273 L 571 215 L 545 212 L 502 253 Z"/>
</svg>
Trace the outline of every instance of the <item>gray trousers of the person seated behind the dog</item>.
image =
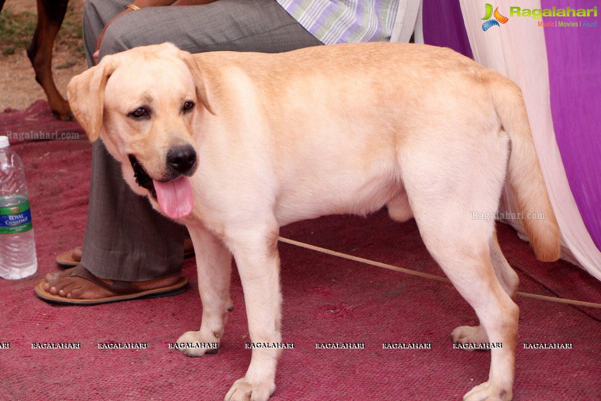
<svg viewBox="0 0 601 401">
<path fill-rule="evenodd" d="M 88 66 L 106 23 L 131 0 L 87 0 Z M 275 0 L 219 0 L 207 5 L 148 7 L 111 23 L 100 57 L 170 41 L 183 50 L 276 53 L 322 44 Z M 102 141 L 93 144 L 90 205 L 82 265 L 98 277 L 141 281 L 181 272 L 185 228 L 136 195 Z"/>
</svg>

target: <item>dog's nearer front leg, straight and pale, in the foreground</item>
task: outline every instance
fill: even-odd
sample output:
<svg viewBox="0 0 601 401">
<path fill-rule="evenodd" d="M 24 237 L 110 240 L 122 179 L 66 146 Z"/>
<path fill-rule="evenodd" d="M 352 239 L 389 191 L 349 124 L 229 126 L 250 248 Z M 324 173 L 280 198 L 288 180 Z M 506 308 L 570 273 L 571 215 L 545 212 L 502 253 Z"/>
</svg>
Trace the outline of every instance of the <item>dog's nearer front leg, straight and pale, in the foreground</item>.
<svg viewBox="0 0 601 401">
<path fill-rule="evenodd" d="M 247 232 L 233 246 L 242 280 L 248 329 L 253 344 L 281 343 L 278 230 Z M 275 391 L 275 369 L 281 349 L 253 348 L 246 375 L 238 379 L 226 401 L 266 401 Z"/>
</svg>

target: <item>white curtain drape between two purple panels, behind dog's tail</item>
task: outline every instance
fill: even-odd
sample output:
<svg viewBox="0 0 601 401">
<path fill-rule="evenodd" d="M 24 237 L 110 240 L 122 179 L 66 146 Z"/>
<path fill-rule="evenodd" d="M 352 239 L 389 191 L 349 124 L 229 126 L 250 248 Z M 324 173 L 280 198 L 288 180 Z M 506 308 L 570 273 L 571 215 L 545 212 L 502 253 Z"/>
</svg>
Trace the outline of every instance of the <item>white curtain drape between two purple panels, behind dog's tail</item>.
<svg viewBox="0 0 601 401">
<path fill-rule="evenodd" d="M 545 28 L 528 17 L 510 17 L 506 25 L 482 29 L 487 0 L 460 0 L 463 20 L 475 60 L 512 79 L 522 88 L 538 159 L 562 236 L 562 257 L 581 265 L 601 280 L 601 252 L 594 245 L 570 191 L 551 117 Z M 520 7 L 537 9 L 540 0 L 522 0 Z M 509 16 L 508 6 L 499 11 Z M 505 11 L 505 13 L 503 12 Z M 566 72 L 567 73 L 567 72 Z M 515 212 L 514 197 L 506 188 L 501 212 Z M 508 221 L 525 238 L 522 222 Z"/>
</svg>

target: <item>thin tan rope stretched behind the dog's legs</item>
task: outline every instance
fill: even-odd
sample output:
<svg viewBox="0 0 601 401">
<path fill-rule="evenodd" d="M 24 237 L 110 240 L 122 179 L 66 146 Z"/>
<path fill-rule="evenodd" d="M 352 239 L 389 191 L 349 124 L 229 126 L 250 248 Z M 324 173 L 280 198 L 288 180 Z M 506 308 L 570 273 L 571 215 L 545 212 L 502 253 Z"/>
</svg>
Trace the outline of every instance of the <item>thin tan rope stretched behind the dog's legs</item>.
<svg viewBox="0 0 601 401">
<path fill-rule="evenodd" d="M 278 237 L 278 239 L 281 242 L 289 243 L 290 245 L 296 245 L 296 246 L 300 246 L 301 248 L 311 249 L 312 251 L 325 253 L 325 254 L 328 254 L 331 256 L 341 257 L 343 259 L 353 260 L 354 262 L 365 263 L 366 265 L 377 266 L 379 268 L 385 268 L 385 269 L 390 269 L 390 270 L 394 270 L 397 272 L 406 273 L 406 274 L 410 274 L 410 275 L 414 275 L 414 276 L 418 276 L 418 277 L 429 278 L 430 280 L 442 281 L 443 283 L 451 283 L 451 280 L 449 280 L 446 277 L 441 277 L 441 276 L 437 276 L 437 275 L 433 275 L 433 274 L 427 274 L 427 273 L 418 272 L 415 270 L 410 270 L 410 269 L 405 269 L 405 268 L 399 268 L 398 266 L 392 266 L 392 265 L 388 265 L 386 263 L 375 262 L 374 260 L 363 259 L 362 257 L 356 257 L 356 256 L 352 256 L 349 254 L 332 251 L 331 249 L 320 248 L 319 246 L 295 241 L 293 239 L 288 239 L 288 238 L 284 238 L 284 237 Z M 537 294 L 531 294 L 528 292 L 517 292 L 517 295 L 524 296 L 526 298 L 540 299 L 542 301 L 557 302 L 559 304 L 579 305 L 579 306 L 590 307 L 590 308 L 601 308 L 601 304 L 596 304 L 594 302 L 577 301 L 575 299 L 555 298 L 552 296 L 537 295 Z"/>
</svg>

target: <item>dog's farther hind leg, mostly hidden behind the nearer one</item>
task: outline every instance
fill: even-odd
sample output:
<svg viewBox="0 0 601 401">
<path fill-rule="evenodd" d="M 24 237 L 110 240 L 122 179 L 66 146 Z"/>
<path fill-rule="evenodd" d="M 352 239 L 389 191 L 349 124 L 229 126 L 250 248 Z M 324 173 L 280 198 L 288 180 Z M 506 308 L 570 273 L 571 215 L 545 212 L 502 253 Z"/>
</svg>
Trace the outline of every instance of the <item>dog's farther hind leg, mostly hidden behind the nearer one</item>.
<svg viewBox="0 0 601 401">
<path fill-rule="evenodd" d="M 516 299 L 517 287 L 519 286 L 519 278 L 503 256 L 496 233 L 493 233 L 492 239 L 490 239 L 490 261 L 495 269 L 496 278 L 501 283 L 507 295 L 514 301 Z M 453 330 L 451 338 L 453 338 L 454 343 L 461 344 L 489 342 L 486 331 L 484 331 L 482 326 L 459 326 Z"/>
</svg>

